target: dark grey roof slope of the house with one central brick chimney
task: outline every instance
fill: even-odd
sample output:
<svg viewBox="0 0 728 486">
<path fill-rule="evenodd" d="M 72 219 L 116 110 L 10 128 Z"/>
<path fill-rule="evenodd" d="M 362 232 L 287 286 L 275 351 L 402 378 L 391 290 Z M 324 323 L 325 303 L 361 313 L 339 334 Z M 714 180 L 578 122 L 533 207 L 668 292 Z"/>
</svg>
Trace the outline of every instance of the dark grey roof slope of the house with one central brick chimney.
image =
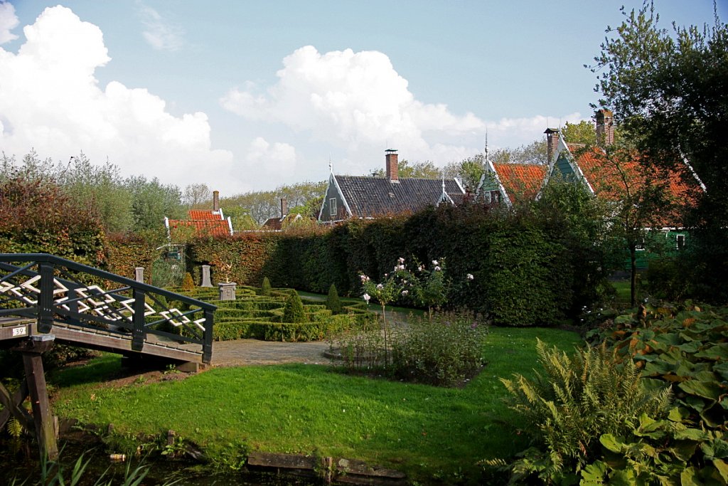
<svg viewBox="0 0 728 486">
<path fill-rule="evenodd" d="M 355 218 L 414 213 L 437 205 L 443 194 L 442 179 L 391 182 L 384 177 L 336 176 L 336 181 Z M 455 203 L 462 201 L 464 191 L 455 179 L 445 179 L 445 192 Z"/>
</svg>

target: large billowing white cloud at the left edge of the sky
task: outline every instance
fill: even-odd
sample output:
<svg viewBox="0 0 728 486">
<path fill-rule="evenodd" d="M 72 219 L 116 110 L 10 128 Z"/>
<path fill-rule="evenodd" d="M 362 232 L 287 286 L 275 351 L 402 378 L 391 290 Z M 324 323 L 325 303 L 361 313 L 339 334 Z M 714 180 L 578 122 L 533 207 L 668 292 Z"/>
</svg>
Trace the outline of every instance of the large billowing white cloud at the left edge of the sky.
<svg viewBox="0 0 728 486">
<path fill-rule="evenodd" d="M 97 26 L 59 6 L 23 32 L 27 40 L 17 54 L 0 48 L 5 153 L 22 157 L 34 147 L 41 157 L 68 160 L 83 151 L 92 162 L 108 157 L 127 175 L 181 187 L 234 184 L 232 154 L 212 149 L 205 113 L 174 117 L 146 89 L 115 81 L 98 86 L 95 69 L 111 59 Z"/>
</svg>

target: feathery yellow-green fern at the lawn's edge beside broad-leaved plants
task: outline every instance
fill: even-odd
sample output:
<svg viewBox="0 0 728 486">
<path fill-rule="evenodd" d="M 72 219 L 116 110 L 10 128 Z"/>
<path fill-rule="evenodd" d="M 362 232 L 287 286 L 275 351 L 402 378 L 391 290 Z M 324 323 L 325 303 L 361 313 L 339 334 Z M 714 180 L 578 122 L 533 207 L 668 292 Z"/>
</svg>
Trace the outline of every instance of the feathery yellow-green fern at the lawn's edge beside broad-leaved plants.
<svg viewBox="0 0 728 486">
<path fill-rule="evenodd" d="M 538 478 L 573 484 L 579 471 L 600 457 L 600 438 L 628 434 L 643 415 L 668 416 L 669 388 L 648 388 L 634 362 L 606 344 L 569 356 L 539 340 L 537 354 L 545 375 L 501 379 L 523 430 L 536 444 L 507 466 L 512 482 Z"/>
</svg>

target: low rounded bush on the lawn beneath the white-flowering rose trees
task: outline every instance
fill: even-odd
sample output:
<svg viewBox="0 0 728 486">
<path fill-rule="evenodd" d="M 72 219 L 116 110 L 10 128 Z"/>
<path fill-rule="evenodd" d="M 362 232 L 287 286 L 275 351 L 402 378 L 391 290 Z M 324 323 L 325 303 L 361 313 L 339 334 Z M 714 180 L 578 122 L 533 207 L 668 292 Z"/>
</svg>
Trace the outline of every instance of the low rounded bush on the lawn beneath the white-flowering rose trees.
<svg viewBox="0 0 728 486">
<path fill-rule="evenodd" d="M 395 377 L 456 386 L 480 371 L 488 332 L 480 318 L 472 313 L 443 313 L 410 322 L 392 337 Z"/>
</svg>

